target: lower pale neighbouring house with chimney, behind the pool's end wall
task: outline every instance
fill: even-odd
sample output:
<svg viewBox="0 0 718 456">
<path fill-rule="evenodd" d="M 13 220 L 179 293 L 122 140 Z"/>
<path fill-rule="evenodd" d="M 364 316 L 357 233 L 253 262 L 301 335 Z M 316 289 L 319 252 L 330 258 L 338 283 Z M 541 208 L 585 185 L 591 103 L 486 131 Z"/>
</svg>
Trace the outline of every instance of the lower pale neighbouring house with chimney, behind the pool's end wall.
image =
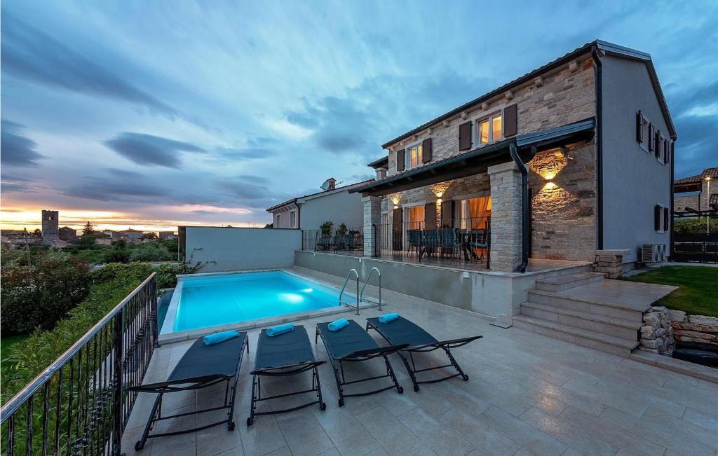
<svg viewBox="0 0 718 456">
<path fill-rule="evenodd" d="M 267 212 L 272 214 L 272 227 L 319 229 L 327 220 L 334 222 L 335 227 L 342 223 L 349 228 L 361 227 L 363 224 L 361 196 L 350 194 L 349 191 L 369 184 L 373 180 L 368 179 L 337 187 L 336 179 L 327 179 L 322 191 L 292 198 L 267 208 Z"/>
</svg>

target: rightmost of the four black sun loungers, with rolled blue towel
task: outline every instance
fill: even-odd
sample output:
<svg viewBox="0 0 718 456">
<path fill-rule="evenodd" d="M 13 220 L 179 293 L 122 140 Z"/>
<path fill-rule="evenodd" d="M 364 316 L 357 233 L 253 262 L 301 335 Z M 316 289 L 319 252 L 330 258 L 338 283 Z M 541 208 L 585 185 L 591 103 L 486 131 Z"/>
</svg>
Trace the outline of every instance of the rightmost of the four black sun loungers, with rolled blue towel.
<svg viewBox="0 0 718 456">
<path fill-rule="evenodd" d="M 452 339 L 450 341 L 437 341 L 437 338 L 424 331 L 421 326 L 401 316 L 389 323 L 381 323 L 379 322 L 379 318 L 367 318 L 366 331 L 369 331 L 370 328 L 375 329 L 379 334 L 381 334 L 383 338 L 386 339 L 386 341 L 388 341 L 388 343 L 391 343 L 391 345 L 407 345 L 406 348 L 402 348 L 401 351 L 399 351 L 398 353 L 399 356 L 401 356 L 401 361 L 404 361 L 404 366 L 406 366 L 406 371 L 409 372 L 411 381 L 414 382 L 414 391 L 419 391 L 419 384 L 436 383 L 437 381 L 453 379 L 457 376 L 461 376 L 464 381 L 467 381 L 469 379 L 469 376 L 467 376 L 467 374 L 464 374 L 464 371 L 462 371 L 461 366 L 459 366 L 459 363 L 456 362 L 456 359 L 454 359 L 454 356 L 451 354 L 451 349 L 465 346 L 467 343 L 470 343 L 472 341 L 475 341 L 476 339 L 480 339 L 483 337 L 472 336 Z M 414 353 L 426 353 L 428 351 L 434 351 L 439 348 L 441 348 L 444 352 L 447 353 L 450 364 L 444 364 L 444 366 L 429 367 L 427 369 L 416 369 L 416 365 L 414 364 Z M 409 364 L 409 360 L 406 359 L 405 353 L 409 353 L 409 358 L 411 358 L 411 365 Z M 444 376 L 440 379 L 434 380 L 416 380 L 416 374 L 419 374 L 419 372 L 434 371 L 436 369 L 443 369 L 444 367 L 451 366 L 453 366 L 458 371 L 457 374 Z"/>
</svg>

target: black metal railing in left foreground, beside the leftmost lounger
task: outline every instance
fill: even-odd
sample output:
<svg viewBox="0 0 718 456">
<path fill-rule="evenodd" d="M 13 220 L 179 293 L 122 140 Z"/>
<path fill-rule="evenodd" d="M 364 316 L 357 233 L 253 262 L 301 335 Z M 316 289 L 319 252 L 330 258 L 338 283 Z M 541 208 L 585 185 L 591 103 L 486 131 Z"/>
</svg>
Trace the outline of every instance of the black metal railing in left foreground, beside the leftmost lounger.
<svg viewBox="0 0 718 456">
<path fill-rule="evenodd" d="M 154 272 L 0 409 L 4 455 L 119 455 L 157 346 Z"/>
</svg>

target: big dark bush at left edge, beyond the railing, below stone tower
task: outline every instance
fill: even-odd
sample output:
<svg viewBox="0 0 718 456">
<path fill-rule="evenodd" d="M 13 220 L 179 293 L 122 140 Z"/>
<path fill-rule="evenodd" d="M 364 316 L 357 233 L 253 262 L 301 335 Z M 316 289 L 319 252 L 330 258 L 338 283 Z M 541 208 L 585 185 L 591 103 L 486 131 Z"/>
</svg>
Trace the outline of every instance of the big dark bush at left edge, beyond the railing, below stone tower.
<svg viewBox="0 0 718 456">
<path fill-rule="evenodd" d="M 1 270 L 0 324 L 4 335 L 51 329 L 90 289 L 90 268 L 77 257 L 47 250 L 27 265 L 19 258 Z"/>
</svg>

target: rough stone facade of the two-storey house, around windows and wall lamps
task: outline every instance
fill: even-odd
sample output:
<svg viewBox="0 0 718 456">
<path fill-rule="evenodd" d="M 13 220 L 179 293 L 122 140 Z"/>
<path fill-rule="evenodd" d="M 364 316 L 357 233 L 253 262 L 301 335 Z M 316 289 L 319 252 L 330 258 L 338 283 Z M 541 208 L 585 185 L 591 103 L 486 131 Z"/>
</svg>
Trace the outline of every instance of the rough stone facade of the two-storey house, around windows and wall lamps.
<svg viewBox="0 0 718 456">
<path fill-rule="evenodd" d="M 565 65 L 533 82 L 516 87 L 509 95 L 497 95 L 486 103 L 470 108 L 463 115 L 444 120 L 411 138 L 391 144 L 387 175 L 397 174 L 398 150 L 420 143 L 426 138 L 432 138 L 430 163 L 465 153 L 466 151 L 459 150 L 459 125 L 498 112 L 513 103 L 516 103 L 518 108 L 518 134 L 594 116 L 595 75 L 590 56 L 582 57 L 575 65 Z M 477 128 L 472 128 L 472 148 L 476 147 L 476 130 Z M 530 169 L 529 186 L 533 195 L 531 257 L 593 260 L 596 241 L 595 160 L 595 141 L 589 141 L 569 147 L 565 153 L 559 153 L 558 150 L 538 153 L 527 163 Z M 488 174 L 454 179 L 443 184 L 445 188 L 440 192 L 437 192 L 437 186 L 434 185 L 386 196 L 386 202 L 383 203 L 383 212 L 387 214 L 386 224 L 392 224 L 393 207 L 401 207 L 404 204 L 426 204 L 440 198 L 442 201 L 437 204 L 439 219 L 439 212 L 442 210 L 440 208 L 447 208 L 447 201 L 450 199 L 460 199 L 459 196 L 465 195 L 490 196 Z M 437 196 L 437 193 L 442 196 Z M 495 196 L 493 198 L 495 199 Z"/>
</svg>

